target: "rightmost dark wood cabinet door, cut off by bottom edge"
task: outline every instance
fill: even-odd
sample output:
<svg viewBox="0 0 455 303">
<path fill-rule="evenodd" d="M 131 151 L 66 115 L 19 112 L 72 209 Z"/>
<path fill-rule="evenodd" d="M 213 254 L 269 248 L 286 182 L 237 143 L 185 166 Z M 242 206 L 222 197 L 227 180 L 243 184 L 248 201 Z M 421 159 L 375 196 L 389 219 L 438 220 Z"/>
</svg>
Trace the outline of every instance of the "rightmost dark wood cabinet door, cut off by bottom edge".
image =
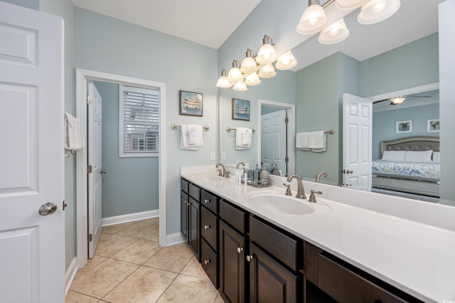
<svg viewBox="0 0 455 303">
<path fill-rule="evenodd" d="M 279 265 L 250 243 L 250 302 L 291 303 L 301 300 L 301 276 Z"/>
</svg>

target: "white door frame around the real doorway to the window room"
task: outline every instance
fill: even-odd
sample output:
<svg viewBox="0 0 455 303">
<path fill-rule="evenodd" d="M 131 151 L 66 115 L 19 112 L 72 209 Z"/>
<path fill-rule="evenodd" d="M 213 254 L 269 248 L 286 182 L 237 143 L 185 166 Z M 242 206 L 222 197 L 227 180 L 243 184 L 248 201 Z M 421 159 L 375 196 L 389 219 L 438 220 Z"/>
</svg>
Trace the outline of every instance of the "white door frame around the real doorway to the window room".
<svg viewBox="0 0 455 303">
<path fill-rule="evenodd" d="M 164 126 L 166 125 L 166 84 L 145 79 L 124 77 L 120 75 L 96 72 L 93 70 L 76 69 L 76 116 L 85 125 L 87 131 L 87 80 L 114 82 L 141 87 L 160 87 L 159 103 L 159 245 L 166 246 L 166 141 Z M 88 146 L 88 145 L 87 145 Z M 76 155 L 76 263 L 83 268 L 88 260 L 87 243 L 87 150 Z"/>
</svg>

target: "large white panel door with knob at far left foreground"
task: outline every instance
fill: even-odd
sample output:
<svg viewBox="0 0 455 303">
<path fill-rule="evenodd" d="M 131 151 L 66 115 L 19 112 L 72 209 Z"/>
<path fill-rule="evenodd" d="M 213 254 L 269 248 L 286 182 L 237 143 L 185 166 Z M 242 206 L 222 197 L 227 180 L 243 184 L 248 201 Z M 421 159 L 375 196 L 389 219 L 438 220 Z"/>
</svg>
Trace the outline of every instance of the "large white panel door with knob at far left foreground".
<svg viewBox="0 0 455 303">
<path fill-rule="evenodd" d="M 0 302 L 64 302 L 63 20 L 2 1 L 0 141 Z"/>
</svg>

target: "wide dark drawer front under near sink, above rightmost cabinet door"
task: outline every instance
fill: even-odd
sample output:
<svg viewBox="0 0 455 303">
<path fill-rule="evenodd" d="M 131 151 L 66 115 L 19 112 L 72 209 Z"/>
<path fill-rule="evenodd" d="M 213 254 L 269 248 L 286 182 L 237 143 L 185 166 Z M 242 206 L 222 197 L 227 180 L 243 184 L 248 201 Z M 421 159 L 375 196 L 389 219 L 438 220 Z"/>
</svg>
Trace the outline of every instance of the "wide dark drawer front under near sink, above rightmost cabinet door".
<svg viewBox="0 0 455 303">
<path fill-rule="evenodd" d="M 302 243 L 297 238 L 291 238 L 251 216 L 250 239 L 292 270 L 297 271 L 302 268 Z"/>
</svg>

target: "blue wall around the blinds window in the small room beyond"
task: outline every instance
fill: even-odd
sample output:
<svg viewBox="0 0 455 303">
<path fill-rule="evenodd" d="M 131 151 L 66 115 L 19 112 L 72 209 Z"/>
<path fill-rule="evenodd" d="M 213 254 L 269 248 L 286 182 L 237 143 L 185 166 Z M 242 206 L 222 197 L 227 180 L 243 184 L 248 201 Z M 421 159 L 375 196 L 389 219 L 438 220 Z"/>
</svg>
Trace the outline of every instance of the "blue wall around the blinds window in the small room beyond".
<svg viewBox="0 0 455 303">
<path fill-rule="evenodd" d="M 119 158 L 119 84 L 95 82 L 102 97 L 102 217 L 159 209 L 159 158 Z"/>
</svg>

